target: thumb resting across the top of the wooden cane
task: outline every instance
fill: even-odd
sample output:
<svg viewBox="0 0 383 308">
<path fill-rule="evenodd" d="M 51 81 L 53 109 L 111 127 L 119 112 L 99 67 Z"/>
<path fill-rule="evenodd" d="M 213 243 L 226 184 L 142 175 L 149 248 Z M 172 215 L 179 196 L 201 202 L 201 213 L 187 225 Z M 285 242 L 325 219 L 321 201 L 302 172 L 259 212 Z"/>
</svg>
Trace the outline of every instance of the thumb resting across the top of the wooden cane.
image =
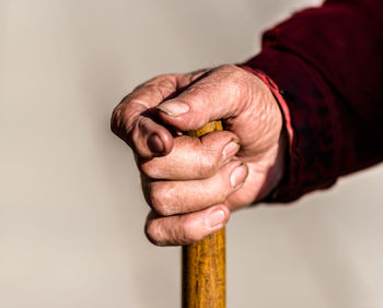
<svg viewBox="0 0 383 308">
<path fill-rule="evenodd" d="M 176 97 L 158 105 L 166 125 L 182 131 L 197 130 L 206 123 L 240 115 L 248 100 L 249 76 L 235 66 L 210 71 Z"/>
</svg>

